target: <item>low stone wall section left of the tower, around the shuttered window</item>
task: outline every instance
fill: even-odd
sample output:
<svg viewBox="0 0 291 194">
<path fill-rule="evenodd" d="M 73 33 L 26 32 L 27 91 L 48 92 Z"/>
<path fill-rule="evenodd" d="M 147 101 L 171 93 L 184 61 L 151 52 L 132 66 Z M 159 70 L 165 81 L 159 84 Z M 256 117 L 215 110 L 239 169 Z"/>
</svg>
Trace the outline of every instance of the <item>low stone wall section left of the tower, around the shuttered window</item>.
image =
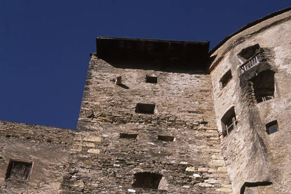
<svg viewBox="0 0 291 194">
<path fill-rule="evenodd" d="M 74 131 L 0 121 L 0 193 L 57 194 Z M 31 162 L 28 180 L 7 178 L 10 160 Z"/>
</svg>

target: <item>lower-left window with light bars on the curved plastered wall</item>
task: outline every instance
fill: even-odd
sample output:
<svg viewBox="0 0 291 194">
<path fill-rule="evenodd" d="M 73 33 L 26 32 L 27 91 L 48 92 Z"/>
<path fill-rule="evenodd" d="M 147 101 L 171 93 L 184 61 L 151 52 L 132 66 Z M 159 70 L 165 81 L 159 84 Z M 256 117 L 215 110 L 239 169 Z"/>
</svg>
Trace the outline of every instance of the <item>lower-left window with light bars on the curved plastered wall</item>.
<svg viewBox="0 0 291 194">
<path fill-rule="evenodd" d="M 234 129 L 237 125 L 237 119 L 234 111 L 234 107 L 231 107 L 222 117 L 222 133 L 226 136 L 232 129 Z"/>
</svg>

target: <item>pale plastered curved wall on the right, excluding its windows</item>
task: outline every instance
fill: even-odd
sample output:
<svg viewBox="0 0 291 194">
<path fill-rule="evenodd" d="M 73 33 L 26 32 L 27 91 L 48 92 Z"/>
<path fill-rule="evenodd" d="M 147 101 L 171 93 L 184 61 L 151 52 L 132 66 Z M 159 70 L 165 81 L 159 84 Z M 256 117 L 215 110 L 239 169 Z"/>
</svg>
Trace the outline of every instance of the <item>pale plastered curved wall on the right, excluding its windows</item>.
<svg viewBox="0 0 291 194">
<path fill-rule="evenodd" d="M 211 56 L 212 60 L 215 58 L 210 76 L 218 130 L 222 132 L 221 118 L 230 107 L 234 106 L 237 118 L 237 126 L 228 135 L 224 137 L 220 133 L 235 194 L 244 189 L 245 193 L 291 192 L 290 32 L 291 12 L 288 11 L 234 35 Z M 255 44 L 268 53 L 263 53 L 259 65 L 242 73 L 238 54 Z M 220 79 L 229 69 L 232 79 L 223 88 Z M 268 69 L 275 72 L 274 98 L 257 102 L 252 85 L 245 83 Z M 274 120 L 279 130 L 267 134 L 265 125 Z"/>
</svg>

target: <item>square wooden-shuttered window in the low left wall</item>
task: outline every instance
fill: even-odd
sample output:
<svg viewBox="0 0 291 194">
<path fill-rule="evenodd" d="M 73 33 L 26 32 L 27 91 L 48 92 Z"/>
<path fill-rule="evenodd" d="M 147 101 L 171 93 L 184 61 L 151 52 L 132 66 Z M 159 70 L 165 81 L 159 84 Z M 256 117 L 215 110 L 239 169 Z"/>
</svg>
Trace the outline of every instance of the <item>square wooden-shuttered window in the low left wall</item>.
<svg viewBox="0 0 291 194">
<path fill-rule="evenodd" d="M 32 170 L 32 162 L 11 160 L 8 164 L 6 178 L 28 180 Z"/>
</svg>

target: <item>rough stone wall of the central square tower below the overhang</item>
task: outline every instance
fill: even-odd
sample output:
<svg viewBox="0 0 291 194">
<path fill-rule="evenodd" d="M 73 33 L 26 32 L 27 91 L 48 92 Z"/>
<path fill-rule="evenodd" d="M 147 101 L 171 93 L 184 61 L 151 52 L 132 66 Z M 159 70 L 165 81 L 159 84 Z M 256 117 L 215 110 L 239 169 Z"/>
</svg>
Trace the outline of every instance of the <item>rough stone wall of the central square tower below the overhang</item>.
<svg viewBox="0 0 291 194">
<path fill-rule="evenodd" d="M 94 54 L 88 68 L 77 134 L 62 194 L 231 193 L 203 71 L 160 71 L 111 64 Z M 146 75 L 157 83 L 146 83 Z M 113 79 L 122 77 L 122 84 Z M 155 104 L 153 114 L 135 113 Z M 134 134 L 136 138 L 123 138 Z M 158 135 L 174 136 L 174 141 Z M 162 175 L 158 189 L 135 187 L 134 175 Z"/>
</svg>

